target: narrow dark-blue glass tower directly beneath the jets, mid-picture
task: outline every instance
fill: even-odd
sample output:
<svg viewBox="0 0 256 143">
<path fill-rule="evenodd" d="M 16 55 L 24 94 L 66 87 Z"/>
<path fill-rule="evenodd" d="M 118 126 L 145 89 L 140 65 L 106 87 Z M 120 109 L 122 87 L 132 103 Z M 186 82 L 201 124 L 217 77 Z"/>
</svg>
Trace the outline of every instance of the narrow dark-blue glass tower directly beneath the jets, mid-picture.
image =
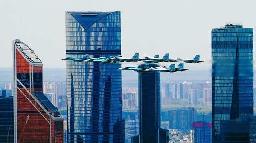
<svg viewBox="0 0 256 143">
<path fill-rule="evenodd" d="M 145 64 L 139 65 L 143 68 Z M 149 64 L 150 67 L 158 67 Z M 160 73 L 139 72 L 139 143 L 159 143 L 161 127 Z M 164 142 L 166 143 L 166 142 Z"/>
</svg>

